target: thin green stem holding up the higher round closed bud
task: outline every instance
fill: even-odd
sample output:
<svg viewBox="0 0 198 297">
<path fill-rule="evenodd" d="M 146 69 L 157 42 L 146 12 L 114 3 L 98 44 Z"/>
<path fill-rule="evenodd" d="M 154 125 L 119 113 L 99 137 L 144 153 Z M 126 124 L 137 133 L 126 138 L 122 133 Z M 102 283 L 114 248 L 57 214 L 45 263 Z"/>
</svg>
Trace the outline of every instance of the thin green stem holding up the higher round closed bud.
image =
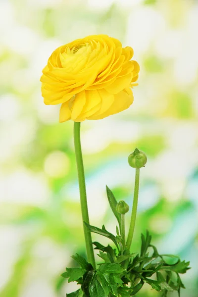
<svg viewBox="0 0 198 297">
<path fill-rule="evenodd" d="M 132 208 L 132 213 L 131 213 L 129 234 L 128 234 L 127 243 L 126 243 L 126 251 L 127 252 L 130 251 L 133 234 L 134 234 L 135 223 L 136 223 L 136 214 L 137 214 L 137 208 L 138 208 L 139 183 L 140 183 L 140 169 L 136 168 L 133 208 Z"/>
</svg>

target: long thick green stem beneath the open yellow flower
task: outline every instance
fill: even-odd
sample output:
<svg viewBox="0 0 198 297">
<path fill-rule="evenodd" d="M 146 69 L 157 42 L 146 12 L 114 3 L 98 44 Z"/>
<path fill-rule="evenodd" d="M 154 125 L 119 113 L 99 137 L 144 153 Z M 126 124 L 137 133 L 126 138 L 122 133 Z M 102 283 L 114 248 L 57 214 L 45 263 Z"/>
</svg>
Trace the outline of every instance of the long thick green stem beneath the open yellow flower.
<svg viewBox="0 0 198 297">
<path fill-rule="evenodd" d="M 89 213 L 87 206 L 87 195 L 86 195 L 86 185 L 85 185 L 85 173 L 83 166 L 83 156 L 81 149 L 81 141 L 80 141 L 80 122 L 74 122 L 74 147 L 76 153 L 76 163 L 78 170 L 78 182 L 80 189 L 80 201 L 81 201 L 81 212 L 83 222 L 90 223 L 89 221 Z M 85 235 L 85 244 L 87 250 L 87 258 L 88 262 L 92 264 L 94 269 L 96 268 L 95 257 L 94 257 L 94 249 L 92 245 L 92 236 L 90 230 L 83 224 L 84 235 Z"/>
</svg>

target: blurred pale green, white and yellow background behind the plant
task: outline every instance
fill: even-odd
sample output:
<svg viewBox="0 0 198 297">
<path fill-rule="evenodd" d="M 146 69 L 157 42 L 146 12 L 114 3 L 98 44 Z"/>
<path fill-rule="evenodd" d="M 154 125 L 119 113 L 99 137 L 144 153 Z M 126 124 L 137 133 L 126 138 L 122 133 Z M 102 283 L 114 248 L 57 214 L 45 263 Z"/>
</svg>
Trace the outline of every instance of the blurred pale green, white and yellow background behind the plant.
<svg viewBox="0 0 198 297">
<path fill-rule="evenodd" d="M 181 296 L 198 297 L 197 28 L 196 0 L 0 1 L 0 297 L 75 289 L 59 276 L 85 254 L 73 123 L 58 123 L 39 80 L 56 47 L 101 33 L 132 46 L 141 72 L 128 110 L 82 123 L 91 223 L 114 232 L 105 185 L 131 206 L 127 157 L 144 150 L 133 250 L 149 229 L 160 252 L 191 261 Z"/>
</svg>

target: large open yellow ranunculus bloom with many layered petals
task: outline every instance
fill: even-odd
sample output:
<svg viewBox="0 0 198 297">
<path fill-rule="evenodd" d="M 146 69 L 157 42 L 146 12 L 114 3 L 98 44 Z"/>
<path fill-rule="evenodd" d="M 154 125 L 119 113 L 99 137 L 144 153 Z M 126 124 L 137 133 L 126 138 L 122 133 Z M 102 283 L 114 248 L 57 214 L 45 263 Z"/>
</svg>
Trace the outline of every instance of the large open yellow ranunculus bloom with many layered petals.
<svg viewBox="0 0 198 297">
<path fill-rule="evenodd" d="M 59 104 L 60 122 L 98 120 L 133 103 L 139 64 L 119 40 L 92 35 L 53 51 L 41 77 L 45 104 Z"/>
</svg>

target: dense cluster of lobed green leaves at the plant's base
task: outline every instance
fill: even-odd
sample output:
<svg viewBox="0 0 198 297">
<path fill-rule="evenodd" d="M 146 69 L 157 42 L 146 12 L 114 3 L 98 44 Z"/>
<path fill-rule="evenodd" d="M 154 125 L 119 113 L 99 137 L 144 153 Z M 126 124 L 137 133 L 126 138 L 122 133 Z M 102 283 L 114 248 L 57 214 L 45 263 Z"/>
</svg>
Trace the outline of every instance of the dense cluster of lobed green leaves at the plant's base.
<svg viewBox="0 0 198 297">
<path fill-rule="evenodd" d="M 89 226 L 92 232 L 99 228 Z M 99 229 L 101 231 L 105 230 Z M 105 232 L 97 232 L 106 237 Z M 179 274 L 184 274 L 190 262 L 181 261 L 178 256 L 160 255 L 157 248 L 151 245 L 151 235 L 141 236 L 142 245 L 140 254 L 125 255 L 119 248 L 104 247 L 95 242 L 95 249 L 99 250 L 99 257 L 104 260 L 94 270 L 85 258 L 76 254 L 72 258 L 81 267 L 66 268 L 62 274 L 69 278 L 68 282 L 76 281 L 81 289 L 67 294 L 67 297 L 129 297 L 135 296 L 144 284 L 161 293 L 161 297 L 168 296 L 169 292 L 177 291 L 180 297 L 181 288 L 185 289 Z M 148 249 L 151 249 L 148 251 Z M 170 264 L 171 260 L 173 264 Z"/>
</svg>

